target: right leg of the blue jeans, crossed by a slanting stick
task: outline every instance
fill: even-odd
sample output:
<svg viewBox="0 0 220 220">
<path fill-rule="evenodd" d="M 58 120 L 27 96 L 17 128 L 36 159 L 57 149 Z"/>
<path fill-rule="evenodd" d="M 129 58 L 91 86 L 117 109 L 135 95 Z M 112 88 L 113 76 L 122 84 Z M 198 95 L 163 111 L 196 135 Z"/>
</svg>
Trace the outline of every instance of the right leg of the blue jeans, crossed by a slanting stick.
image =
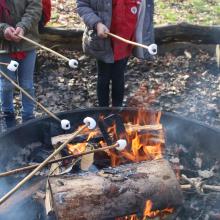
<svg viewBox="0 0 220 220">
<path fill-rule="evenodd" d="M 32 97 L 34 97 L 34 67 L 36 61 L 36 51 L 32 50 L 27 52 L 27 56 L 24 60 L 20 61 L 18 71 L 19 85 L 27 91 Z M 28 97 L 22 94 L 22 120 L 27 121 L 34 118 L 34 102 Z"/>
</svg>

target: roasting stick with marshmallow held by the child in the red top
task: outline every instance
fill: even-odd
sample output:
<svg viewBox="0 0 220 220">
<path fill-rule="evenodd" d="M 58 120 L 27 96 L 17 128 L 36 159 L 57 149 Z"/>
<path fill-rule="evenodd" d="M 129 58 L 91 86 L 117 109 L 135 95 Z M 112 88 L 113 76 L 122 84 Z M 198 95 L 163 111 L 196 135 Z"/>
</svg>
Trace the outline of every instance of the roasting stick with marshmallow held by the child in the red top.
<svg viewBox="0 0 220 220">
<path fill-rule="evenodd" d="M 144 45 L 144 44 L 140 44 L 140 43 L 137 43 L 137 42 L 134 42 L 134 41 L 130 41 L 130 40 L 127 40 L 123 37 L 120 37 L 118 35 L 115 35 L 115 34 L 112 34 L 112 33 L 106 33 L 107 35 L 111 36 L 111 37 L 114 37 L 124 43 L 127 43 L 127 44 L 131 44 L 133 46 L 136 46 L 136 47 L 142 47 L 144 49 L 147 49 L 148 52 L 151 54 L 151 55 L 156 55 L 157 54 L 157 45 L 156 44 L 151 44 L 149 46 L 147 45 Z"/>
</svg>

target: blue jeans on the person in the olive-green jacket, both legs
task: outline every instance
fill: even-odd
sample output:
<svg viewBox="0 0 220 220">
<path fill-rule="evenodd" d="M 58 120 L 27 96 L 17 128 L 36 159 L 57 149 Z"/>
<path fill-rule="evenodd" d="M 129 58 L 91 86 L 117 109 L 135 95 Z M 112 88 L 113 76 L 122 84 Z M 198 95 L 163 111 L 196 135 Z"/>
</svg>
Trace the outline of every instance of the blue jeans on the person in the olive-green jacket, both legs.
<svg viewBox="0 0 220 220">
<path fill-rule="evenodd" d="M 10 63 L 12 58 L 8 54 L 0 54 L 0 62 Z M 27 56 L 19 62 L 19 67 L 16 72 L 11 72 L 6 66 L 0 65 L 0 69 L 6 73 L 14 81 L 34 97 L 34 67 L 36 61 L 36 51 L 28 51 Z M 14 114 L 13 94 L 14 86 L 3 76 L 0 77 L 0 93 L 2 111 L 7 114 Z M 27 121 L 34 117 L 34 103 L 28 97 L 22 94 L 22 120 Z"/>
</svg>

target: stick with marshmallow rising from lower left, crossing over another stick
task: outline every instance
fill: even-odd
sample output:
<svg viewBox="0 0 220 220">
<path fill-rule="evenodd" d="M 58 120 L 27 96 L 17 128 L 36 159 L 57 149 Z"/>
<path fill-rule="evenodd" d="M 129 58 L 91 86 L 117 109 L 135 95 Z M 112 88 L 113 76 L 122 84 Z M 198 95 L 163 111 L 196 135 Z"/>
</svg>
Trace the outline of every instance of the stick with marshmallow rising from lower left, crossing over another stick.
<svg viewBox="0 0 220 220">
<path fill-rule="evenodd" d="M 29 181 L 38 171 L 40 171 L 46 164 L 53 159 L 67 144 L 69 144 L 80 132 L 84 129 L 89 128 L 90 130 L 96 127 L 96 121 L 93 118 L 86 117 L 84 120 L 84 125 L 76 130 L 72 136 L 61 144 L 48 158 L 46 158 L 42 163 L 40 163 L 30 174 L 28 174 L 22 181 L 20 181 L 12 190 L 6 193 L 0 199 L 0 205 L 3 204 L 11 195 L 13 195 L 21 186 L 23 186 L 27 181 Z"/>
</svg>

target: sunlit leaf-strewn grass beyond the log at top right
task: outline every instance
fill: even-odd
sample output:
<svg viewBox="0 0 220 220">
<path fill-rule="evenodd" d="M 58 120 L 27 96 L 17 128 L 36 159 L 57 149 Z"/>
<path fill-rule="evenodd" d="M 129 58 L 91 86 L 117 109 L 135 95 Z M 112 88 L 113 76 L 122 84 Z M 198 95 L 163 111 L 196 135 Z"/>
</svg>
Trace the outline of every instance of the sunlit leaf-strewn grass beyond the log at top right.
<svg viewBox="0 0 220 220">
<path fill-rule="evenodd" d="M 155 23 L 220 25 L 219 0 L 155 0 Z"/>
</svg>

